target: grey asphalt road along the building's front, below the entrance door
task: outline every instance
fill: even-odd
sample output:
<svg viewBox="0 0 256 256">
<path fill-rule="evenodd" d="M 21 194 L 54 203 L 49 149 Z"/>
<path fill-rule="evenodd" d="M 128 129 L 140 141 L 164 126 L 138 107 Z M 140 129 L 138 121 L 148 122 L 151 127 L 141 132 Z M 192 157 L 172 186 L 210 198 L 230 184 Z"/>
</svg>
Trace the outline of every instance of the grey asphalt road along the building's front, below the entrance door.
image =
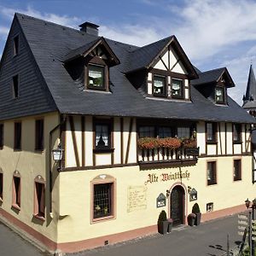
<svg viewBox="0 0 256 256">
<path fill-rule="evenodd" d="M 230 248 L 241 240 L 237 235 L 237 215 L 209 221 L 200 226 L 183 226 L 170 234 L 160 234 L 102 247 L 78 256 L 217 256 L 223 255 L 227 248 L 227 235 L 230 235 Z"/>
</svg>

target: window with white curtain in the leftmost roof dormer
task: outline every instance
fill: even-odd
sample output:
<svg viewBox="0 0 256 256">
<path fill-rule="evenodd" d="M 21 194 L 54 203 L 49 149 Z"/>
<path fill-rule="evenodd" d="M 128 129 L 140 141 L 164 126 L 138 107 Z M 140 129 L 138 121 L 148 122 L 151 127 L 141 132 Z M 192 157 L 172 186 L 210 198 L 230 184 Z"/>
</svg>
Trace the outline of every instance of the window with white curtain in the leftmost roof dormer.
<svg viewBox="0 0 256 256">
<path fill-rule="evenodd" d="M 105 90 L 105 67 L 100 65 L 88 65 L 87 87 L 96 90 Z"/>
</svg>

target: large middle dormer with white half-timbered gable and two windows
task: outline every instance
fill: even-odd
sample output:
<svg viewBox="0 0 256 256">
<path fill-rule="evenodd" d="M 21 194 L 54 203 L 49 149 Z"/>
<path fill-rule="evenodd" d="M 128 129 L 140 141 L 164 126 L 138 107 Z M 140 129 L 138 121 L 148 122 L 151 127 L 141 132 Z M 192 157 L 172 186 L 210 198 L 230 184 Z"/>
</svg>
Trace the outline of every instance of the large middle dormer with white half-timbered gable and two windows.
<svg viewBox="0 0 256 256">
<path fill-rule="evenodd" d="M 146 96 L 153 98 L 190 101 L 190 79 L 198 78 L 174 36 L 131 52 L 128 69 L 126 74 L 133 84 L 132 76 L 146 75 L 143 90 Z"/>
</svg>

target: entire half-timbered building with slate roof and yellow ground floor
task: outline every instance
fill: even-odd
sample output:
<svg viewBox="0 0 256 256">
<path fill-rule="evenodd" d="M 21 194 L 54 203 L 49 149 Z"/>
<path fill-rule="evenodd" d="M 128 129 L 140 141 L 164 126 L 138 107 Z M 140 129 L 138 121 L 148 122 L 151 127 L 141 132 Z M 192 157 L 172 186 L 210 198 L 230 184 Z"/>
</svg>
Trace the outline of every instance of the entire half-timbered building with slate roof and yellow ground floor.
<svg viewBox="0 0 256 256">
<path fill-rule="evenodd" d="M 175 36 L 137 47 L 15 14 L 0 63 L 0 217 L 76 252 L 244 210 L 251 125 L 225 67 Z M 53 154 L 62 154 L 59 160 Z"/>
</svg>

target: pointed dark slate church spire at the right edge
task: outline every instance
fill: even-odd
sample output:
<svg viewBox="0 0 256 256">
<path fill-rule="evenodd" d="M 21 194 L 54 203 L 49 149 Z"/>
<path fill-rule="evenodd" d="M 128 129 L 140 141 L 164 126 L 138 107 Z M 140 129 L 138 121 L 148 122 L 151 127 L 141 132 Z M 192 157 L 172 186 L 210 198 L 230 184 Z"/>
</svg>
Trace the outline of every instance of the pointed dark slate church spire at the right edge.
<svg viewBox="0 0 256 256">
<path fill-rule="evenodd" d="M 253 65 L 250 66 L 247 81 L 247 92 L 243 97 L 243 108 L 256 108 L 256 79 L 253 72 Z"/>
</svg>

